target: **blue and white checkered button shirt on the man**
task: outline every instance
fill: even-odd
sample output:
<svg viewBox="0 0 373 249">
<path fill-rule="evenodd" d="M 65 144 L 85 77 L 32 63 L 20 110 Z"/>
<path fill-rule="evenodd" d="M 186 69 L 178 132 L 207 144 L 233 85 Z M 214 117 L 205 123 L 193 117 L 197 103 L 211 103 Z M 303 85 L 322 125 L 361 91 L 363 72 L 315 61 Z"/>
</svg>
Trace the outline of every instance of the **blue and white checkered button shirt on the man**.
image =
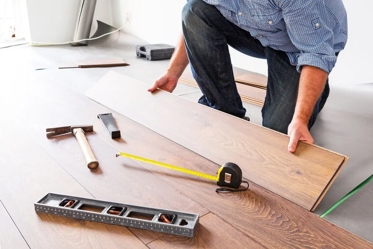
<svg viewBox="0 0 373 249">
<path fill-rule="evenodd" d="M 332 71 L 347 42 L 342 0 L 204 0 L 249 31 L 263 46 L 284 51 L 290 63 Z"/>
</svg>

